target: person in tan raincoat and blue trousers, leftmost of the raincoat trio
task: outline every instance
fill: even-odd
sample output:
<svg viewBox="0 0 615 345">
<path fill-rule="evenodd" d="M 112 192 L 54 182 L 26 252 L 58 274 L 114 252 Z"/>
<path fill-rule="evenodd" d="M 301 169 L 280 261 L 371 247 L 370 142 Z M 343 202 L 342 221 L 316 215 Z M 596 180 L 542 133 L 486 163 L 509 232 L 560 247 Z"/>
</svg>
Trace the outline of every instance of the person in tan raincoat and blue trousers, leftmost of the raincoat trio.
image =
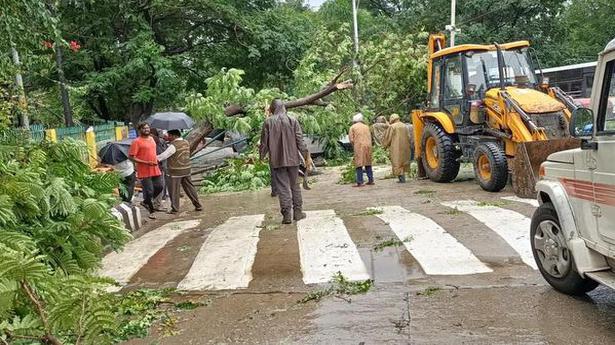
<svg viewBox="0 0 615 345">
<path fill-rule="evenodd" d="M 363 187 L 363 171 L 367 173 L 367 184 L 374 184 L 372 171 L 372 134 L 369 127 L 363 122 L 363 114 L 358 113 L 352 118 L 353 125 L 348 131 L 348 139 L 354 151 L 354 166 L 357 174 L 355 187 Z"/>
</svg>

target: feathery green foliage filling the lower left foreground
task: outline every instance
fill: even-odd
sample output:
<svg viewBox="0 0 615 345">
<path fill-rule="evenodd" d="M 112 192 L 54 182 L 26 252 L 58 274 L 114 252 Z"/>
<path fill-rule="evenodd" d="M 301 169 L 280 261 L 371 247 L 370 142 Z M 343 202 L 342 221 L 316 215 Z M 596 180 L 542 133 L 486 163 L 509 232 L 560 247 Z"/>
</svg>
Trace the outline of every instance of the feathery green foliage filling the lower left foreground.
<svg viewBox="0 0 615 345">
<path fill-rule="evenodd" d="M 117 185 L 83 163 L 83 144 L 0 143 L 0 336 L 107 344 L 110 281 L 92 274 L 130 239 L 110 213 Z M 45 340 L 47 339 L 47 340 Z"/>
</svg>

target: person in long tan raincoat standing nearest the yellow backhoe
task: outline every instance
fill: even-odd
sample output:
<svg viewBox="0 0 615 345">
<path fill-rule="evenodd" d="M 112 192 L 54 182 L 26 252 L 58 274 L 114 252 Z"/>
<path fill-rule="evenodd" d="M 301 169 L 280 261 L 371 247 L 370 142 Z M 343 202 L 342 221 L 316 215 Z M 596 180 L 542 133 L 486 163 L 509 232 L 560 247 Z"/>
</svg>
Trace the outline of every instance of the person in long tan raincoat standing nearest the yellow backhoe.
<svg viewBox="0 0 615 345">
<path fill-rule="evenodd" d="M 397 176 L 399 183 L 405 183 L 406 172 L 410 171 L 410 133 L 397 114 L 391 115 L 389 123 L 382 147 L 389 149 L 393 175 Z"/>
</svg>

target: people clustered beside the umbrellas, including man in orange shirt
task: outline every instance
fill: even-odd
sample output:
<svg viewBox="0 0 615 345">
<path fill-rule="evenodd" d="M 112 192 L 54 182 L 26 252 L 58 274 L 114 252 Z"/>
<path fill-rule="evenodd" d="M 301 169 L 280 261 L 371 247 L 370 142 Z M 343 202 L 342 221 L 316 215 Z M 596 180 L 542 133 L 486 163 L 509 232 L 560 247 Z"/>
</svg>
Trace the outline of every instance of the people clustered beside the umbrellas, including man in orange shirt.
<svg viewBox="0 0 615 345">
<path fill-rule="evenodd" d="M 142 205 L 149 211 L 150 218 L 155 218 L 156 211 L 179 212 L 180 187 L 195 210 L 201 211 L 203 206 L 191 179 L 190 144 L 182 138 L 181 132 L 169 130 L 163 139 L 147 123 L 140 123 L 137 132 L 138 137 L 128 151 L 129 160 L 114 166 L 123 179 L 122 199 L 132 200 L 138 178 L 143 187 Z M 161 201 L 167 194 L 171 205 L 163 210 Z"/>
</svg>

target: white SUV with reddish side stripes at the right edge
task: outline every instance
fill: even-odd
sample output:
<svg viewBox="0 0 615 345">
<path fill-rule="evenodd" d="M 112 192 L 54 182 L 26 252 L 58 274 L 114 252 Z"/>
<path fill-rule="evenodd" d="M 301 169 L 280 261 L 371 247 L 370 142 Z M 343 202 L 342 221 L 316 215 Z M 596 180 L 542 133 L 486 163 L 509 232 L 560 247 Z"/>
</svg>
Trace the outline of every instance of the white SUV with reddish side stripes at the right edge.
<svg viewBox="0 0 615 345">
<path fill-rule="evenodd" d="M 599 55 L 591 109 L 570 119 L 581 148 L 550 155 L 536 185 L 532 251 L 543 277 L 567 294 L 615 288 L 614 103 L 615 39 Z"/>
</svg>

